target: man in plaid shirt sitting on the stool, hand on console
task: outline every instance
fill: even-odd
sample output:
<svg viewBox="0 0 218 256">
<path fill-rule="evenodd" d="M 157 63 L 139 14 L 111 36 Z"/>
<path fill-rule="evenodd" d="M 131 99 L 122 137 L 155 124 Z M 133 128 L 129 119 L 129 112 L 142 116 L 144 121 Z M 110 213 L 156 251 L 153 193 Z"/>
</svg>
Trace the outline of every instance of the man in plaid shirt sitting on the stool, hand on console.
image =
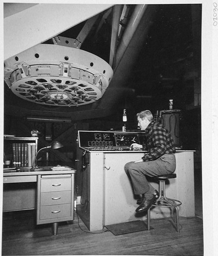
<svg viewBox="0 0 218 256">
<path fill-rule="evenodd" d="M 140 204 L 136 212 L 147 211 L 159 197 L 158 191 L 150 185 L 146 176 L 157 177 L 175 172 L 175 144 L 170 133 L 160 123 L 153 120 L 149 110 L 137 114 L 138 126 L 145 131 L 146 145 L 133 143 L 133 150 L 147 151 L 135 162 L 126 163 L 125 172 L 132 180 L 135 195 L 142 195 L 137 201 Z"/>
</svg>

